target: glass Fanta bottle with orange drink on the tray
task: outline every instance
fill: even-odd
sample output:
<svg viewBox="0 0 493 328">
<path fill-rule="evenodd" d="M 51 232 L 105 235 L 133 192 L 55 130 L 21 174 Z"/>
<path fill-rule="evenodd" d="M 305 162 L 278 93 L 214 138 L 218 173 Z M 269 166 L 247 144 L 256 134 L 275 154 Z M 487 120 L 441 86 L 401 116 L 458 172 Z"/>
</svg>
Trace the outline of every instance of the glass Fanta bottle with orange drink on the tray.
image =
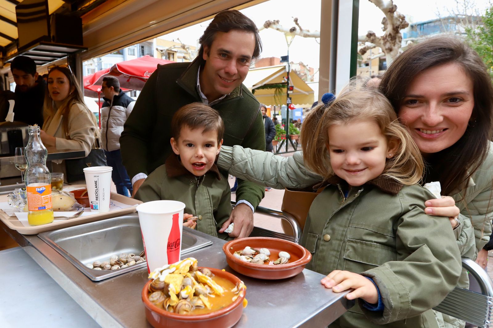
<svg viewBox="0 0 493 328">
<path fill-rule="evenodd" d="M 40 225 L 53 222 L 51 203 L 51 177 L 46 167 L 48 151 L 39 138 L 39 126 L 29 127 L 29 141 L 26 146 L 26 192 L 28 198 L 28 222 Z"/>
</svg>

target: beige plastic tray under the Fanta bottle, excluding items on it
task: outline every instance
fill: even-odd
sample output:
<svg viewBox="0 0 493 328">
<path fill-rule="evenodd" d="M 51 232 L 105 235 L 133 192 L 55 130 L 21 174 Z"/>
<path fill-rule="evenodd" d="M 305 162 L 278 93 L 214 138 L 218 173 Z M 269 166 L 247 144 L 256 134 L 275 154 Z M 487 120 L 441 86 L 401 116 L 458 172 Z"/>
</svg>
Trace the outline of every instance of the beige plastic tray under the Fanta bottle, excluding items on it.
<svg viewBox="0 0 493 328">
<path fill-rule="evenodd" d="M 71 187 L 79 187 L 80 188 L 85 188 L 84 185 L 71 185 Z M 17 230 L 17 232 L 23 234 L 23 235 L 35 235 L 43 231 L 50 231 L 54 229 L 59 229 L 59 228 L 66 228 L 72 225 L 77 225 L 77 224 L 82 224 L 82 223 L 88 223 L 88 222 L 93 222 L 93 221 L 99 221 L 103 219 L 108 219 L 108 218 L 114 218 L 120 215 L 124 214 L 129 214 L 129 213 L 134 213 L 137 212 L 136 208 L 137 205 L 142 204 L 140 200 L 129 198 L 117 193 L 112 192 L 110 194 L 110 198 L 113 200 L 116 200 L 117 202 L 123 203 L 123 204 L 128 204 L 128 205 L 134 205 L 132 207 L 129 207 L 127 209 L 123 210 L 117 210 L 117 211 L 111 211 L 111 212 L 106 212 L 106 213 L 95 213 L 94 215 L 88 215 L 85 217 L 77 218 L 77 219 L 69 219 L 69 220 L 60 220 L 58 222 L 52 222 L 52 223 L 47 223 L 47 224 L 42 224 L 42 225 L 36 225 L 36 226 L 24 226 L 18 219 L 17 217 L 9 217 L 5 212 L 3 212 L 0 209 L 0 220 L 2 220 L 3 223 L 7 227 L 9 227 L 12 230 Z M 7 201 L 7 195 L 1 195 L 0 196 L 0 202 L 6 202 Z"/>
</svg>

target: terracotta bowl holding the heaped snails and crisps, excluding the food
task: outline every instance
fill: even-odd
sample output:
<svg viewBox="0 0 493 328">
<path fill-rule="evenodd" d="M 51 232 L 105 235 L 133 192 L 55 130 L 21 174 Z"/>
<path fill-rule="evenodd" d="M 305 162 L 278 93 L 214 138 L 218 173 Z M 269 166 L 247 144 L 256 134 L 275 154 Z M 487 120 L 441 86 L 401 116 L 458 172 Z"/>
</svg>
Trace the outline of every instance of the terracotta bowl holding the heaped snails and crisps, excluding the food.
<svg viewBox="0 0 493 328">
<path fill-rule="evenodd" d="M 214 275 L 225 278 L 235 285 L 241 282 L 238 277 L 229 272 L 214 268 L 208 269 Z M 145 317 L 154 328 L 229 328 L 233 327 L 242 316 L 243 299 L 246 292 L 228 306 L 211 313 L 200 315 L 177 314 L 160 309 L 149 302 L 147 288 L 151 282 L 152 280 L 149 280 L 142 289 L 142 302 L 145 306 Z"/>
</svg>

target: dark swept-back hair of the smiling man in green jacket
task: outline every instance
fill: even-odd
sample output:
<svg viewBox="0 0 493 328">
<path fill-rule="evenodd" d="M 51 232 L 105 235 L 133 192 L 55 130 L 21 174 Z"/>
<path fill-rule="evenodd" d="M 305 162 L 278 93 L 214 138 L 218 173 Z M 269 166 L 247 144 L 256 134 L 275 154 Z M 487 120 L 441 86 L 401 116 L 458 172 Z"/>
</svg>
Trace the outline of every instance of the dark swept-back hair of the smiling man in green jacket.
<svg viewBox="0 0 493 328">
<path fill-rule="evenodd" d="M 255 49 L 253 50 L 252 58 L 256 58 L 262 52 L 262 41 L 258 34 L 258 29 L 255 23 L 238 10 L 223 10 L 215 15 L 211 24 L 200 37 L 200 49 L 198 57 L 202 58 L 204 47 L 211 49 L 212 41 L 214 41 L 217 32 L 227 33 L 231 30 L 251 32 L 255 36 Z M 209 54 L 208 54 L 209 55 Z"/>
</svg>

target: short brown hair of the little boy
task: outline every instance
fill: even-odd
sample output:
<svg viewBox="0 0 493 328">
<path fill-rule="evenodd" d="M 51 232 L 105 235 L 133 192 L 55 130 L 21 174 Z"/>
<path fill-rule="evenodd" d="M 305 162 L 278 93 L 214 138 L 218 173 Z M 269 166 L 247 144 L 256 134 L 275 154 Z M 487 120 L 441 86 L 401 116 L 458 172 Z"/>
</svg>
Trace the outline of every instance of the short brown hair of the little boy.
<svg viewBox="0 0 493 328">
<path fill-rule="evenodd" d="M 171 135 L 175 140 L 178 140 L 181 128 L 185 125 L 191 130 L 202 128 L 204 132 L 216 131 L 217 142 L 220 142 L 224 135 L 221 116 L 215 109 L 203 103 L 191 103 L 176 111 L 171 120 Z"/>
</svg>

